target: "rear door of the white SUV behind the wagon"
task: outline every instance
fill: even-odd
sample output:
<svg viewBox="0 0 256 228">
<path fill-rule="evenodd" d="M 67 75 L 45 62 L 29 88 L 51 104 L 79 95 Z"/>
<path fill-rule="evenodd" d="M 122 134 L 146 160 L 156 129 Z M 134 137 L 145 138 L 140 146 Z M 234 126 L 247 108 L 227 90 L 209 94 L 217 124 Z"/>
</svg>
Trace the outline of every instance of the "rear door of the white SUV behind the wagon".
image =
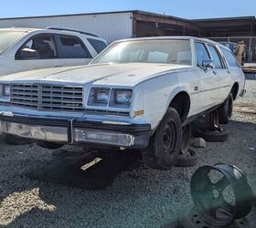
<svg viewBox="0 0 256 228">
<path fill-rule="evenodd" d="M 60 57 L 66 66 L 87 65 L 92 56 L 78 36 L 57 35 Z"/>
</svg>

